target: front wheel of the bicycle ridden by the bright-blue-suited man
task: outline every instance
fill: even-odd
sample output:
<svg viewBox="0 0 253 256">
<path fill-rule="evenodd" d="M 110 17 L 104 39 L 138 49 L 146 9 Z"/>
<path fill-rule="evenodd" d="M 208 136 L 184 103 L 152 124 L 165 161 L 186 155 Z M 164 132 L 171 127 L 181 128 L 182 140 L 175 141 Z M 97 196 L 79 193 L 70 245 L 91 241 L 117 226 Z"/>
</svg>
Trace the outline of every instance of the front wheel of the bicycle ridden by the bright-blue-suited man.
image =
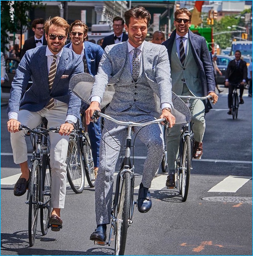
<svg viewBox="0 0 253 256">
<path fill-rule="evenodd" d="M 78 137 L 69 138 L 69 146 L 67 153 L 67 178 L 71 186 L 71 189 L 76 193 L 80 194 L 84 189 L 84 164 L 83 158 L 78 147 Z M 78 159 L 79 155 L 79 159 Z"/>
</svg>

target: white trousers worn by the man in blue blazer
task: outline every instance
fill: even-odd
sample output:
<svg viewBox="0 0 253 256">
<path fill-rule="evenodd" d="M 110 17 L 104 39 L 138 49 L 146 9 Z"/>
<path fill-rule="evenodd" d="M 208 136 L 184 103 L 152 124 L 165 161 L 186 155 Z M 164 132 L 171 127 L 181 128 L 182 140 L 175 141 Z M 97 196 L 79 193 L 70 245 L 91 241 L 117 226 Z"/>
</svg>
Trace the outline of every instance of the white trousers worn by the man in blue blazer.
<svg viewBox="0 0 253 256">
<path fill-rule="evenodd" d="M 48 121 L 48 128 L 59 127 L 65 123 L 68 105 L 57 102 L 53 109 L 44 108 L 38 112 L 31 112 L 21 109 L 18 113 L 18 121 L 30 128 L 38 126 L 43 117 Z M 27 145 L 25 141 L 27 131 L 10 133 L 11 147 L 15 164 L 28 160 Z M 52 208 L 64 208 L 66 195 L 68 136 L 61 136 L 59 133 L 49 132 L 50 138 L 50 165 L 52 168 Z"/>
</svg>

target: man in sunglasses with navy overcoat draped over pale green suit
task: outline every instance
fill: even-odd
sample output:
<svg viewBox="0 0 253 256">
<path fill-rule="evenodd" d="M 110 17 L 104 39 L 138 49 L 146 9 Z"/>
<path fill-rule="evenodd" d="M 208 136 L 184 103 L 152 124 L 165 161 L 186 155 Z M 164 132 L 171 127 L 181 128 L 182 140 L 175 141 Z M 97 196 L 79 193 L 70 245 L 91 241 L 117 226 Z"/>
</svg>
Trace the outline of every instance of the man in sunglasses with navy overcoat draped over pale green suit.
<svg viewBox="0 0 253 256">
<path fill-rule="evenodd" d="M 215 94 L 213 66 L 207 43 L 204 37 L 189 30 L 192 13 L 181 8 L 174 13 L 176 29 L 170 38 L 162 44 L 168 49 L 172 91 L 176 95 L 203 97 L 211 95 L 213 103 L 218 96 Z M 193 157 L 200 159 L 203 153 L 202 140 L 205 132 L 205 110 L 212 108 L 209 100 L 191 100 L 192 129 L 194 132 Z M 180 140 L 180 126 L 168 130 L 167 159 L 168 177 L 167 187 L 175 187 L 176 155 Z"/>
</svg>

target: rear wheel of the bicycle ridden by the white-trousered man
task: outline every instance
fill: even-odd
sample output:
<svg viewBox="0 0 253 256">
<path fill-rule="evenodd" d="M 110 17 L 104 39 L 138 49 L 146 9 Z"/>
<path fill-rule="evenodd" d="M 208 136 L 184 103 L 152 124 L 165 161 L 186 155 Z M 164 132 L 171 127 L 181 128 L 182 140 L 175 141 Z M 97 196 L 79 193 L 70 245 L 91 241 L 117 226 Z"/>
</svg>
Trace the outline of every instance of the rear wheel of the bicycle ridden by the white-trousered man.
<svg viewBox="0 0 253 256">
<path fill-rule="evenodd" d="M 42 203 L 45 208 L 40 209 L 40 229 L 43 235 L 47 234 L 48 221 L 51 215 L 51 168 L 49 158 L 46 160 L 45 173 L 43 173 Z"/>
</svg>

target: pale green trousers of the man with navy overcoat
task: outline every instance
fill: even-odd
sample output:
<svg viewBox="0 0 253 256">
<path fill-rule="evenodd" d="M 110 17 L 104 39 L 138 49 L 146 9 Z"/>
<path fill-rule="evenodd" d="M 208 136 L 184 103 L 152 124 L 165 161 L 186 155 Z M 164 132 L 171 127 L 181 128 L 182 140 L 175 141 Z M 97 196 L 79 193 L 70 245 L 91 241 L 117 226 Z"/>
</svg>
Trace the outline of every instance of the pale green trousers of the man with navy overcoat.
<svg viewBox="0 0 253 256">
<path fill-rule="evenodd" d="M 184 84 L 183 88 L 183 96 L 194 96 L 187 88 L 186 84 Z M 186 102 L 186 99 L 182 99 Z M 206 122 L 205 122 L 205 105 L 202 100 L 190 100 L 191 107 L 190 111 L 192 113 L 192 130 L 194 133 L 194 140 L 198 142 L 202 142 Z M 180 142 L 180 134 L 182 127 L 180 125 L 175 125 L 174 127 L 168 130 L 167 134 L 167 159 L 168 159 L 168 169 L 169 174 L 175 173 L 176 168 L 176 158 L 178 155 L 178 148 Z"/>
</svg>

